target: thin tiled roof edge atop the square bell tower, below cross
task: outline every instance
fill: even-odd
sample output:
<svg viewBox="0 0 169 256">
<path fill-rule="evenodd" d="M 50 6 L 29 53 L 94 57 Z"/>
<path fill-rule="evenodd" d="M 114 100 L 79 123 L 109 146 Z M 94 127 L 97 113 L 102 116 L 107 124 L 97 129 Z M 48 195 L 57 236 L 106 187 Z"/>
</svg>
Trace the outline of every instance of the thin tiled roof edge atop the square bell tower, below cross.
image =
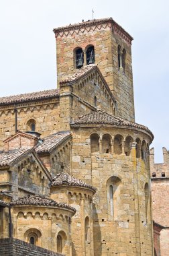
<svg viewBox="0 0 169 256">
<path fill-rule="evenodd" d="M 80 22 L 78 24 L 69 24 L 68 26 L 62 26 L 60 28 L 54 28 L 54 33 L 58 32 L 64 32 L 64 31 L 69 31 L 69 30 L 75 30 L 76 28 L 87 28 L 89 26 L 95 26 L 95 25 L 100 25 L 100 24 L 105 24 L 107 22 L 113 23 L 113 25 L 117 26 L 120 30 L 123 31 L 123 33 L 130 39 L 133 40 L 132 36 L 125 31 L 117 22 L 113 20 L 113 18 L 104 18 L 104 19 L 95 19 L 95 20 L 88 20 L 87 22 Z"/>
</svg>

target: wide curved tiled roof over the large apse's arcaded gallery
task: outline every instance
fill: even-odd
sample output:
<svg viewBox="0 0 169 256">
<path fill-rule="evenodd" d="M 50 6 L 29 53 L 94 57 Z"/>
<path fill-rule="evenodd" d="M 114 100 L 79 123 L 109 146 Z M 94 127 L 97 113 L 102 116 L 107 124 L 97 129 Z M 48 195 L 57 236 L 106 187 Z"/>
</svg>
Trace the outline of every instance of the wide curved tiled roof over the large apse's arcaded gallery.
<svg viewBox="0 0 169 256">
<path fill-rule="evenodd" d="M 79 119 L 75 120 L 71 123 L 72 126 L 78 125 L 93 125 L 93 124 L 103 124 L 103 125 L 115 125 L 115 126 L 122 126 L 122 127 L 133 127 L 137 129 L 142 129 L 147 131 L 154 137 L 152 131 L 148 129 L 148 127 L 144 125 L 139 125 L 138 123 L 133 123 L 126 119 L 122 119 L 121 117 L 115 117 L 113 115 L 109 115 L 102 110 L 93 111 L 87 115 L 83 115 Z"/>
</svg>

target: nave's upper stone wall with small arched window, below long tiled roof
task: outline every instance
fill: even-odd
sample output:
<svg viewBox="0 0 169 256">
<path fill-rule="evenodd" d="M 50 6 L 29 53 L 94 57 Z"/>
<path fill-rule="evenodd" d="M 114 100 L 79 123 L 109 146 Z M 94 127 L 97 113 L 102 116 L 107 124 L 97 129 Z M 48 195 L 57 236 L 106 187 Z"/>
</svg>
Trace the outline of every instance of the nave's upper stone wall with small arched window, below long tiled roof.
<svg viewBox="0 0 169 256">
<path fill-rule="evenodd" d="M 17 129 L 31 131 L 30 121 L 34 121 L 36 131 L 46 137 L 60 130 L 59 100 L 34 100 L 17 104 Z M 15 113 L 13 104 L 0 106 L 0 150 L 3 141 L 15 133 Z"/>
</svg>

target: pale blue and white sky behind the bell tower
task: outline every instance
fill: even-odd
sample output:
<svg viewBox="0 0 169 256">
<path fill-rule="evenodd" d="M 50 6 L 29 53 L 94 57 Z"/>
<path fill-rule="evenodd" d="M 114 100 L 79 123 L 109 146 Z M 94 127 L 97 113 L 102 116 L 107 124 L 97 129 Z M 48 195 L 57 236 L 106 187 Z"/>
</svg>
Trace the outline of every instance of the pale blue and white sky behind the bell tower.
<svg viewBox="0 0 169 256">
<path fill-rule="evenodd" d="M 169 150 L 168 0 L 0 0 L 0 97 L 56 88 L 53 28 L 112 17 L 132 42 L 135 121 Z"/>
</svg>

